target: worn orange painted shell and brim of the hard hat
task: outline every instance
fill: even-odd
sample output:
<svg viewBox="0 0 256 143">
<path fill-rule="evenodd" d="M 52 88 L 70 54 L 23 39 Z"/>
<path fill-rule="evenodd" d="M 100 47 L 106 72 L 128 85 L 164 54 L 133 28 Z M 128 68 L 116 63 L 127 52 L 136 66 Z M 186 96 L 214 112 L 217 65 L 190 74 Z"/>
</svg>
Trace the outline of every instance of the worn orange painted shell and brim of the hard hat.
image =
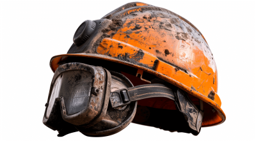
<svg viewBox="0 0 256 143">
<path fill-rule="evenodd" d="M 175 13 L 161 8 L 156 9 L 156 13 L 143 8 L 147 8 L 147 4 L 137 3 L 133 8 L 118 11 L 122 26 L 116 31 L 106 33 L 112 36 L 101 41 L 95 49 L 97 53 L 52 57 L 52 70 L 58 68 L 63 56 L 92 57 L 132 66 L 156 75 L 203 100 L 205 114 L 202 126 L 223 123 L 226 117 L 217 94 L 216 64 L 202 33 L 188 20 Z M 131 16 L 131 13 L 134 15 Z M 115 14 L 113 13 L 114 16 Z M 140 52 L 144 55 L 138 57 Z M 125 61 L 122 57 L 145 66 Z M 208 98 L 211 92 L 215 94 L 214 100 Z M 212 108 L 216 112 L 213 112 Z"/>
</svg>

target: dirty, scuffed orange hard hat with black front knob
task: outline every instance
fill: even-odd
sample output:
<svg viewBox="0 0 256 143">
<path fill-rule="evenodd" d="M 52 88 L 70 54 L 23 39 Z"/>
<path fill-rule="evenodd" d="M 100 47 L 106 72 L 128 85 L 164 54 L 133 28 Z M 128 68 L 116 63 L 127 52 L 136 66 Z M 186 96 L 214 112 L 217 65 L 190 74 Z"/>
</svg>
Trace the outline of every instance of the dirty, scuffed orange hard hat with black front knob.
<svg viewBox="0 0 256 143">
<path fill-rule="evenodd" d="M 195 104 L 199 104 L 198 99 L 204 101 L 202 126 L 225 121 L 217 94 L 217 68 L 209 45 L 193 24 L 172 11 L 128 3 L 100 20 L 86 20 L 77 29 L 68 53 L 52 57 L 52 71 L 69 57 L 94 62 L 93 65 L 97 65 L 96 61 L 109 61 L 106 67 L 111 67 L 111 63 L 125 65 L 128 68 L 120 66 L 120 72 L 134 86 L 148 84 L 154 77 L 165 80 L 186 91 Z M 138 101 L 138 105 L 175 110 L 168 98 L 148 98 Z M 140 123 L 138 120 L 135 117 L 133 122 Z"/>
</svg>

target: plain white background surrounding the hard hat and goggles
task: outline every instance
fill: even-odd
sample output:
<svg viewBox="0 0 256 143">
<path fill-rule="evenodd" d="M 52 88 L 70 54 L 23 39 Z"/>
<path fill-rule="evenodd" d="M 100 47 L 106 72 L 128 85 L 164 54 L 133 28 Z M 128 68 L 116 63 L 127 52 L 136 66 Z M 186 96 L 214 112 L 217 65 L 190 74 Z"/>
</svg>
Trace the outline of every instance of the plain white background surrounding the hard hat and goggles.
<svg viewBox="0 0 256 143">
<path fill-rule="evenodd" d="M 132 1 L 1 1 L 0 142 L 256 142 L 255 1 L 143 1 L 188 19 L 204 34 L 218 68 L 227 120 L 195 137 L 131 123 L 109 137 L 57 137 L 42 123 L 53 73 L 77 27 Z"/>
</svg>

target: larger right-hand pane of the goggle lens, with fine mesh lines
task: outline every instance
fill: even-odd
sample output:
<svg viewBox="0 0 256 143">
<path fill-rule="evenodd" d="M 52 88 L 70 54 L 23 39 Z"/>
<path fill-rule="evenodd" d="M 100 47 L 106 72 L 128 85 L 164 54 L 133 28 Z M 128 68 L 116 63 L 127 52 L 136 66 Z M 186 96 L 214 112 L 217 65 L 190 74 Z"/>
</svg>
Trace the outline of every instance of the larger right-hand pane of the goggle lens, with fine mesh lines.
<svg viewBox="0 0 256 143">
<path fill-rule="evenodd" d="M 92 89 L 92 74 L 82 70 L 64 72 L 63 87 L 60 96 L 63 96 L 67 115 L 76 114 L 85 109 L 89 102 Z"/>
</svg>

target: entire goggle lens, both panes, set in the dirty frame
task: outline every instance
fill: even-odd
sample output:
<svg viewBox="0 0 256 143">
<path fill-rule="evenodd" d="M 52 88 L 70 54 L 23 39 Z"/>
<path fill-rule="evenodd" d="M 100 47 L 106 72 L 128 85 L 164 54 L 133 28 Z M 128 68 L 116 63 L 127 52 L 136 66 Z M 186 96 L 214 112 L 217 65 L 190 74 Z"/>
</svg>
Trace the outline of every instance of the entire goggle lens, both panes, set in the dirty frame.
<svg viewBox="0 0 256 143">
<path fill-rule="evenodd" d="M 76 114 L 88 106 L 92 89 L 92 73 L 84 70 L 70 70 L 61 73 L 52 87 L 51 98 L 47 108 L 48 118 L 55 98 L 63 96 L 67 115 Z"/>
</svg>

